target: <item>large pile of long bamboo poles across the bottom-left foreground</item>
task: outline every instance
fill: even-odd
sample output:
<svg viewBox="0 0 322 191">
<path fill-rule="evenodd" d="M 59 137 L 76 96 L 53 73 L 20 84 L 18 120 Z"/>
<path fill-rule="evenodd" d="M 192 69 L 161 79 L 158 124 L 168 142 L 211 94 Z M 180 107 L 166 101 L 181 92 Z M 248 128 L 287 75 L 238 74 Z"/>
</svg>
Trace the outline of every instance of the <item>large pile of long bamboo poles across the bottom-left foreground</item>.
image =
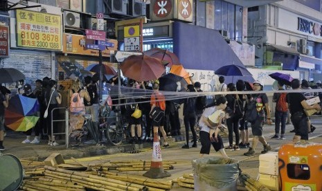
<svg viewBox="0 0 322 191">
<path fill-rule="evenodd" d="M 45 166 L 42 162 L 24 161 L 21 163 L 25 170 L 24 181 L 21 183 L 21 190 L 152 190 L 164 191 L 171 190 L 172 181 L 159 181 L 154 179 L 147 179 L 143 176 L 134 174 L 127 174 L 123 172 L 111 172 L 102 170 L 102 165 L 119 165 L 120 163 L 131 164 L 132 167 L 138 165 L 137 163 L 144 161 L 114 161 L 111 163 L 102 163 L 95 165 L 88 169 L 89 172 L 78 172 L 80 170 L 78 165 L 75 165 L 75 170 L 66 170 L 63 167 L 73 169 L 73 165 L 62 165 L 57 167 Z M 168 163 L 175 163 L 168 161 Z M 146 162 L 149 165 L 150 162 Z M 100 170 L 96 170 L 98 167 Z"/>
</svg>

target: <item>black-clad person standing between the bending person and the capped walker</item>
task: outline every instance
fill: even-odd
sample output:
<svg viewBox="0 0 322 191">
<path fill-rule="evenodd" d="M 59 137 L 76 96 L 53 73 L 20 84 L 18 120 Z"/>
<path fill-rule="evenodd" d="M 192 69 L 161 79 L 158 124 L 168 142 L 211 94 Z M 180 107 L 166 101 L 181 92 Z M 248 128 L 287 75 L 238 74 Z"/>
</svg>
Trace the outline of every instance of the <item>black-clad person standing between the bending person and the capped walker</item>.
<svg viewBox="0 0 322 191">
<path fill-rule="evenodd" d="M 227 91 L 236 91 L 235 84 L 233 83 L 228 84 Z M 239 116 L 239 114 L 242 113 L 242 102 L 239 99 L 237 94 L 236 95 L 227 94 L 226 99 L 227 99 L 226 109 L 229 109 L 230 110 L 229 113 L 231 113 L 231 117 L 226 119 L 226 123 L 228 127 L 228 137 L 229 137 L 229 147 L 226 147 L 226 151 L 240 150 L 240 147 L 238 146 L 240 142 L 240 132 L 238 130 L 238 123 L 240 121 L 240 117 L 242 117 L 242 116 Z M 233 133 L 235 133 L 234 146 L 233 146 Z"/>
</svg>

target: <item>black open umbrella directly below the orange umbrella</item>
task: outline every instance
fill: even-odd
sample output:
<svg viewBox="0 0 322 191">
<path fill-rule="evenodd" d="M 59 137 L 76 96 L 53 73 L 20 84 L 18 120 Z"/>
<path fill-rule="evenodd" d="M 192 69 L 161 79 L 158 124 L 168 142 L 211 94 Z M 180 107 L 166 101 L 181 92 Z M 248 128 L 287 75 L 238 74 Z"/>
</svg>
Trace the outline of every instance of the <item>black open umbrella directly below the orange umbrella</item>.
<svg viewBox="0 0 322 191">
<path fill-rule="evenodd" d="M 181 90 L 184 89 L 184 87 L 187 87 L 188 83 L 186 80 L 184 80 L 183 77 L 179 75 L 175 75 L 173 73 L 168 73 L 167 75 L 163 75 L 161 78 L 159 78 L 160 87 L 159 90 L 161 91 L 177 91 L 178 84 L 177 82 L 180 82 L 181 84 Z"/>
</svg>

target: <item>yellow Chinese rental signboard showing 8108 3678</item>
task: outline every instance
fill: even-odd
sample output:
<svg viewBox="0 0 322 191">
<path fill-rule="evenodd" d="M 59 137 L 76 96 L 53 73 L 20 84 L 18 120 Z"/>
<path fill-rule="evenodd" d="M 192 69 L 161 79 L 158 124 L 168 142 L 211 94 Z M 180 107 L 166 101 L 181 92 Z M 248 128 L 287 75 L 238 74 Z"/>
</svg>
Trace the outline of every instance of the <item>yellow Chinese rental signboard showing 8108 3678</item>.
<svg viewBox="0 0 322 191">
<path fill-rule="evenodd" d="M 60 15 L 16 10 L 17 46 L 62 50 L 62 18 Z"/>
</svg>

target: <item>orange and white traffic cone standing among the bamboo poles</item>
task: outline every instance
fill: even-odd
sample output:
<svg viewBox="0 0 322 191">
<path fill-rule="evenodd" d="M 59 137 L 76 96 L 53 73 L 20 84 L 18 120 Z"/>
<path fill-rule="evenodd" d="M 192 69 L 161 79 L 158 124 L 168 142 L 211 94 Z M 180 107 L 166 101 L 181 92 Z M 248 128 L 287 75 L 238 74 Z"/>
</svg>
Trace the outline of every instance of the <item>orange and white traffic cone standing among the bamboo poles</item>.
<svg viewBox="0 0 322 191">
<path fill-rule="evenodd" d="M 150 170 L 145 172 L 143 176 L 146 176 L 150 179 L 162 179 L 164 177 L 169 177 L 171 174 L 164 171 L 162 165 L 162 156 L 161 156 L 161 146 L 158 133 L 154 133 L 153 138 L 153 152 L 151 159 Z"/>
</svg>

